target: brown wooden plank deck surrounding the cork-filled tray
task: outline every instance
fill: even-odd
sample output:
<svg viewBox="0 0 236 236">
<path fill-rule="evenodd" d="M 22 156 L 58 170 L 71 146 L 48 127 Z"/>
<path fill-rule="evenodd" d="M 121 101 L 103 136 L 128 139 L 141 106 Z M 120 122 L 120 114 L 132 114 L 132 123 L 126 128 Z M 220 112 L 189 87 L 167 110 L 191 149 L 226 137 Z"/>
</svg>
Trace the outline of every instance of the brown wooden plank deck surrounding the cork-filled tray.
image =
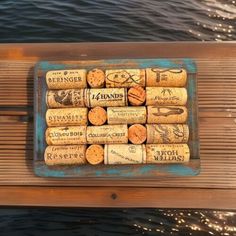
<svg viewBox="0 0 236 236">
<path fill-rule="evenodd" d="M 199 176 L 109 181 L 34 175 L 38 60 L 162 57 L 197 62 Z M 236 209 L 236 42 L 0 45 L 0 205 Z"/>
</svg>

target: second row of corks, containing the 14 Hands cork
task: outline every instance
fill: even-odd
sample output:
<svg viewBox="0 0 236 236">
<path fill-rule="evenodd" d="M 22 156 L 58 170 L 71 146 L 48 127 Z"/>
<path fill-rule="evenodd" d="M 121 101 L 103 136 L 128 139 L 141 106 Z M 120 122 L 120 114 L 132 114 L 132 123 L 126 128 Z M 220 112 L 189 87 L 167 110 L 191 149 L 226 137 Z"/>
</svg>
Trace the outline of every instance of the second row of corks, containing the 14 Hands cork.
<svg viewBox="0 0 236 236">
<path fill-rule="evenodd" d="M 186 105 L 188 100 L 186 88 L 135 86 L 127 88 L 92 88 L 49 90 L 46 103 L 49 108 L 66 107 L 114 107 Z"/>
</svg>

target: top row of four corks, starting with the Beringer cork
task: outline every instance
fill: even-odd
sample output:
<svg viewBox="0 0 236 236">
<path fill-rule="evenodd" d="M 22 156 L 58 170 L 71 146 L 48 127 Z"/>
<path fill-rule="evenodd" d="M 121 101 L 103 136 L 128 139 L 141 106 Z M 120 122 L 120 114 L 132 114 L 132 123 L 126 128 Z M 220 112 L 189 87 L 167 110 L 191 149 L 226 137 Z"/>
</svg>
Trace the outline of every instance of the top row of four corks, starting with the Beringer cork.
<svg viewBox="0 0 236 236">
<path fill-rule="evenodd" d="M 184 87 L 187 81 L 185 69 L 106 69 L 99 68 L 54 70 L 46 73 L 49 89 Z"/>
</svg>

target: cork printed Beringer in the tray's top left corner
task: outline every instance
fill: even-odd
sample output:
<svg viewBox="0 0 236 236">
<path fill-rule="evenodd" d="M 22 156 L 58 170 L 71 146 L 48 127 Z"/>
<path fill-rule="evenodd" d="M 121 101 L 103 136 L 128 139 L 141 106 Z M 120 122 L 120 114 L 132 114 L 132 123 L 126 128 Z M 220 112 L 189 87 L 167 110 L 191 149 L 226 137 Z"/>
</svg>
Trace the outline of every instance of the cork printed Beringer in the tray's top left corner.
<svg viewBox="0 0 236 236">
<path fill-rule="evenodd" d="M 52 70 L 46 73 L 46 83 L 49 89 L 79 89 L 86 88 L 86 70 Z"/>
</svg>

